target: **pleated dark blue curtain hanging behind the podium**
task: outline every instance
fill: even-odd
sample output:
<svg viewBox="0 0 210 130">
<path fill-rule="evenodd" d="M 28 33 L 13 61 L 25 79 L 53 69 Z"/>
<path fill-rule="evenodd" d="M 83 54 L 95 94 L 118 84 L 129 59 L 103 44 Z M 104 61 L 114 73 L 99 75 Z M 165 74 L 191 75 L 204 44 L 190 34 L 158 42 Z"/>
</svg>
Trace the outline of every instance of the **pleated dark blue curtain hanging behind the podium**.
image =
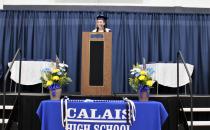
<svg viewBox="0 0 210 130">
<path fill-rule="evenodd" d="M 194 94 L 210 94 L 210 15 L 103 12 L 113 33 L 113 93 L 130 93 L 132 64 L 175 62 L 181 50 L 195 66 Z M 0 62 L 4 71 L 17 48 L 25 60 L 55 59 L 70 67 L 73 79 L 66 92 L 80 92 L 82 32 L 95 27 L 97 12 L 1 11 Z"/>
</svg>

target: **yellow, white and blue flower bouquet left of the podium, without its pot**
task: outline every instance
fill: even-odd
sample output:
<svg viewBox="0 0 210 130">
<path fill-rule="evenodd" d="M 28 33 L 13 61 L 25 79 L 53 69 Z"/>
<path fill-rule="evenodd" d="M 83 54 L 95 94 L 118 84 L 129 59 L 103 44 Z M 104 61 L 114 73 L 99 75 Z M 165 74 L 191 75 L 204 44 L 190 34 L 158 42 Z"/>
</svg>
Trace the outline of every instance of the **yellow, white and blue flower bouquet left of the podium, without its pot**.
<svg viewBox="0 0 210 130">
<path fill-rule="evenodd" d="M 61 88 L 63 85 L 72 82 L 67 75 L 68 66 L 63 63 L 52 63 L 50 67 L 41 70 L 41 81 L 43 87 L 53 91 Z"/>
</svg>

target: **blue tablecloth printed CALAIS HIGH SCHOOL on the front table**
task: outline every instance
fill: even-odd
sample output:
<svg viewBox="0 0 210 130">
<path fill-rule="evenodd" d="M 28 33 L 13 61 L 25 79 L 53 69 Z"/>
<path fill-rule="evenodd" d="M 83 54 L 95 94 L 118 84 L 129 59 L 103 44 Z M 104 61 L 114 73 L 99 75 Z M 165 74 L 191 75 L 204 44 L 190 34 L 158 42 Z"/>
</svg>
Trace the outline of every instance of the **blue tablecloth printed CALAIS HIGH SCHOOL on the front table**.
<svg viewBox="0 0 210 130">
<path fill-rule="evenodd" d="M 161 130 L 168 117 L 160 102 L 138 102 L 136 121 L 126 121 L 126 103 L 123 101 L 68 102 L 68 130 Z M 61 122 L 60 101 L 42 101 L 37 109 L 42 130 L 65 130 Z"/>
</svg>

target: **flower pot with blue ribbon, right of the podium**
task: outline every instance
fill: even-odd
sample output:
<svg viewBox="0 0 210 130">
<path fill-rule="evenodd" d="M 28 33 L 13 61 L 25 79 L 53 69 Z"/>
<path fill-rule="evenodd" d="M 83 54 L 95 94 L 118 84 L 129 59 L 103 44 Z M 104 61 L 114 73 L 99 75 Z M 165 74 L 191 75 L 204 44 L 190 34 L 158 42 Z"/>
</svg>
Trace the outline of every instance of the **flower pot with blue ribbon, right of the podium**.
<svg viewBox="0 0 210 130">
<path fill-rule="evenodd" d="M 150 89 L 147 86 L 140 86 L 138 90 L 139 101 L 149 101 Z"/>
</svg>

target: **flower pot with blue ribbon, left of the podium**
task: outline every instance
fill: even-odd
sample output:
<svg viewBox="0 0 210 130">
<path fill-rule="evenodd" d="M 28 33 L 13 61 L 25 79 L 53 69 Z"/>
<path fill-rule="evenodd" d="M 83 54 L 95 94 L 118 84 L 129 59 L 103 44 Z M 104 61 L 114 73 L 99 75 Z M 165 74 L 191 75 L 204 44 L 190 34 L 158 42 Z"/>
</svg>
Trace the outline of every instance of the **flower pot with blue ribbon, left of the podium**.
<svg viewBox="0 0 210 130">
<path fill-rule="evenodd" d="M 51 100 L 60 100 L 62 89 L 59 84 L 53 84 L 49 87 L 50 99 Z"/>
</svg>

